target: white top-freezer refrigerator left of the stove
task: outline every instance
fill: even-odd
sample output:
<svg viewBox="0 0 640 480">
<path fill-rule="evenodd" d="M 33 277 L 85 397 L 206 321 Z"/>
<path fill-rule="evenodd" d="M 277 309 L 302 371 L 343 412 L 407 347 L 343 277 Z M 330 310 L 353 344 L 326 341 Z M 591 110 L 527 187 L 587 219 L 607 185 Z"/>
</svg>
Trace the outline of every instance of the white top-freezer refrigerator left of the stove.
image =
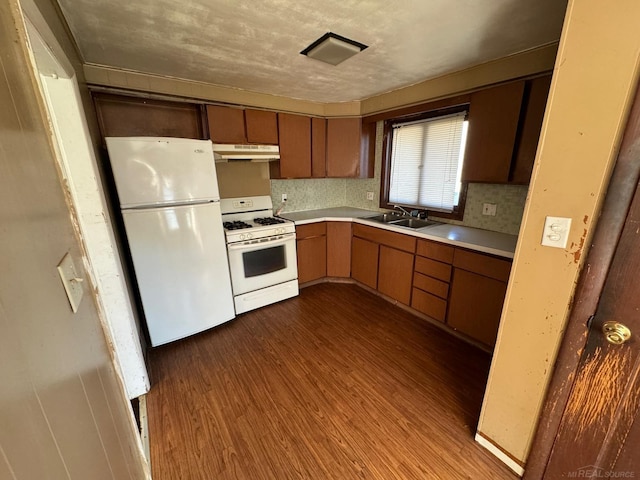
<svg viewBox="0 0 640 480">
<path fill-rule="evenodd" d="M 151 345 L 234 318 L 211 142 L 106 142 Z"/>
</svg>

